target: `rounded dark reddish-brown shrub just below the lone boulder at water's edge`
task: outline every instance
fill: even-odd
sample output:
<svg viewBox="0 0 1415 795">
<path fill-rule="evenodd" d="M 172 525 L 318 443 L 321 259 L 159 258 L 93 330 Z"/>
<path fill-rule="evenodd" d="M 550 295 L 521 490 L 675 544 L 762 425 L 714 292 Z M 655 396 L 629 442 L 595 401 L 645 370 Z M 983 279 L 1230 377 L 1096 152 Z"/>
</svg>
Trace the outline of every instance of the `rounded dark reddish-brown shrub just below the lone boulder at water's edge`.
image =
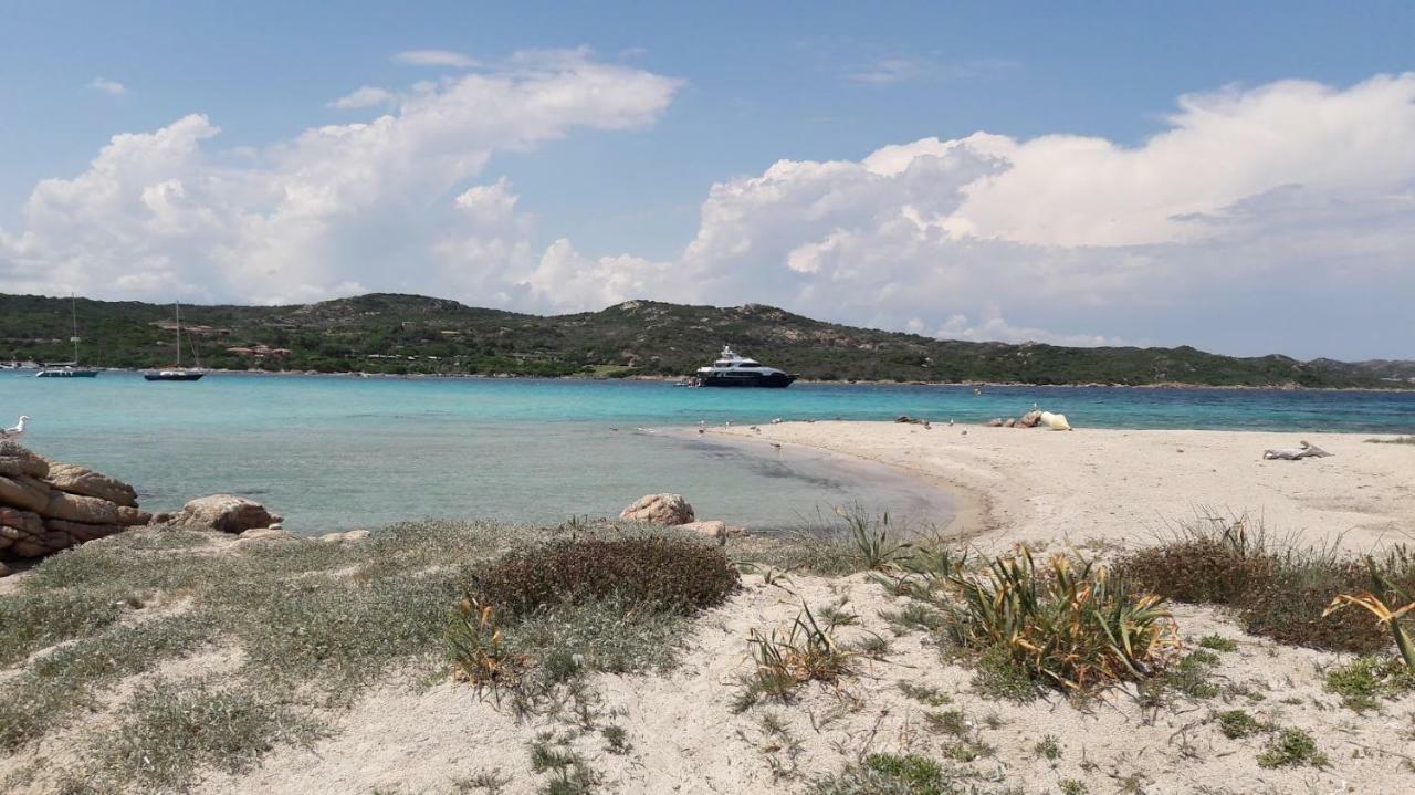
<svg viewBox="0 0 1415 795">
<path fill-rule="evenodd" d="M 485 601 L 515 615 L 610 596 L 689 614 L 722 604 L 739 581 L 717 547 L 664 538 L 550 542 L 507 555 L 475 576 Z"/>
</svg>

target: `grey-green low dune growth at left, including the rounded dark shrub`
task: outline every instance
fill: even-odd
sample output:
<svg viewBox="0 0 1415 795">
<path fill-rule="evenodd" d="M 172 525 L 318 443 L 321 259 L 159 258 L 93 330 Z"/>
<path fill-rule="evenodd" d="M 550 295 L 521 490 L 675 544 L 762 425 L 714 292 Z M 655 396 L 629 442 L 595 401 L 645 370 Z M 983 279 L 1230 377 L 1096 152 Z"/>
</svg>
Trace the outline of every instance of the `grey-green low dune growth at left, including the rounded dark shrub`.
<svg viewBox="0 0 1415 795">
<path fill-rule="evenodd" d="M 330 709 L 391 675 L 415 685 L 447 672 L 449 617 L 468 587 L 521 594 L 505 646 L 535 672 L 538 690 L 521 700 L 533 710 L 583 673 L 671 666 L 689 614 L 737 583 L 717 547 L 682 533 L 570 532 L 410 522 L 359 543 L 232 545 L 164 530 L 55 555 L 0 596 L 0 648 L 18 666 L 0 682 L 0 748 L 113 710 L 113 726 L 83 743 L 85 775 L 105 791 L 181 791 L 194 771 L 245 770 L 275 744 L 317 736 Z M 553 562 L 555 577 L 539 577 L 536 560 Z M 202 654 L 229 668 L 219 686 L 188 676 L 161 678 L 160 697 L 146 679 L 113 689 Z"/>
</svg>

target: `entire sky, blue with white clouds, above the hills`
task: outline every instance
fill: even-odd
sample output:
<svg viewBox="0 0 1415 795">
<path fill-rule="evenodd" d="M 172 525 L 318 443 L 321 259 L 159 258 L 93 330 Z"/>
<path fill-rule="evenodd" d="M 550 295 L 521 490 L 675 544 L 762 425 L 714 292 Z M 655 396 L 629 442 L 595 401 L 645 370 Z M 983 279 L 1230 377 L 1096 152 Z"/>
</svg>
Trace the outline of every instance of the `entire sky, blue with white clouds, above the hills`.
<svg viewBox="0 0 1415 795">
<path fill-rule="evenodd" d="M 0 291 L 1415 358 L 1415 4 L 11 0 Z"/>
</svg>

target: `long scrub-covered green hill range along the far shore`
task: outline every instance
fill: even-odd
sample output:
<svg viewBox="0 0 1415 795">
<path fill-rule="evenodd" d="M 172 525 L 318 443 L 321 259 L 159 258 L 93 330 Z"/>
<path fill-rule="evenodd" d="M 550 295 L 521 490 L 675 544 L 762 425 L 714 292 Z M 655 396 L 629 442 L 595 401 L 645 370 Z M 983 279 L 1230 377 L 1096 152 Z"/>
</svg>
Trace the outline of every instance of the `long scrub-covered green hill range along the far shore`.
<svg viewBox="0 0 1415 795">
<path fill-rule="evenodd" d="M 76 310 L 88 365 L 149 368 L 175 358 L 170 306 L 81 298 Z M 683 376 L 732 344 L 816 381 L 1415 388 L 1409 361 L 964 342 L 822 323 L 761 304 L 625 301 L 539 317 L 375 293 L 289 307 L 192 306 L 183 307 L 183 318 L 202 364 L 224 369 Z M 0 296 L 0 358 L 67 361 L 68 337 L 68 298 Z"/>
</svg>

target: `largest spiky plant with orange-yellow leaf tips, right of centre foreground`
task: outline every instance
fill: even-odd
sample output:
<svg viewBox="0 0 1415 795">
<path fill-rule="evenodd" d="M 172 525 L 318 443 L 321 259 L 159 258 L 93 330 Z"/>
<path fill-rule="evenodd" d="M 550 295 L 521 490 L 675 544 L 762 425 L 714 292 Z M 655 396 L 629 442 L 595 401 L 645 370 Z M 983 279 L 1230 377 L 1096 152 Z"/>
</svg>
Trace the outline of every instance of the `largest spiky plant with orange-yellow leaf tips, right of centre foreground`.
<svg viewBox="0 0 1415 795">
<path fill-rule="evenodd" d="M 1054 555 L 1046 569 L 1026 547 L 981 574 L 952 574 L 961 605 L 949 632 L 959 644 L 1002 648 L 1029 676 L 1070 690 L 1143 679 L 1179 637 L 1163 598 L 1084 559 Z"/>
</svg>

